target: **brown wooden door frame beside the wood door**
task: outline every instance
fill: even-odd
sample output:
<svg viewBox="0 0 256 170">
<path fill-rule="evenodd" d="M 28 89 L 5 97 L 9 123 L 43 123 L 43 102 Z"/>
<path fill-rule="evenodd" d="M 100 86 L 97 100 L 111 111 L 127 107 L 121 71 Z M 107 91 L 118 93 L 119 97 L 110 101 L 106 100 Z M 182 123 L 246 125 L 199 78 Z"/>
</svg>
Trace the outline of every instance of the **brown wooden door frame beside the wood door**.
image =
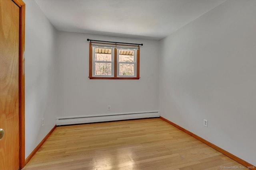
<svg viewBox="0 0 256 170">
<path fill-rule="evenodd" d="M 20 136 L 20 169 L 25 166 L 25 3 L 12 0 L 20 8 L 19 28 L 19 136 Z"/>
</svg>

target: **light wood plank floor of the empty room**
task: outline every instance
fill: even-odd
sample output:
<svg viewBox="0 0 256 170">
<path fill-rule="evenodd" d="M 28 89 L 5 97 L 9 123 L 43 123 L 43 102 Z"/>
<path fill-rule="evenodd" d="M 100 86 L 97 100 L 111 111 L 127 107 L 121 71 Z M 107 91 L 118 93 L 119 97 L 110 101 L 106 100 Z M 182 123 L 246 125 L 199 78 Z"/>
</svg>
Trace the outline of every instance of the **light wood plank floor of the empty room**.
<svg viewBox="0 0 256 170">
<path fill-rule="evenodd" d="M 218 170 L 220 166 L 242 165 L 155 118 L 57 127 L 23 169 Z"/>
</svg>

